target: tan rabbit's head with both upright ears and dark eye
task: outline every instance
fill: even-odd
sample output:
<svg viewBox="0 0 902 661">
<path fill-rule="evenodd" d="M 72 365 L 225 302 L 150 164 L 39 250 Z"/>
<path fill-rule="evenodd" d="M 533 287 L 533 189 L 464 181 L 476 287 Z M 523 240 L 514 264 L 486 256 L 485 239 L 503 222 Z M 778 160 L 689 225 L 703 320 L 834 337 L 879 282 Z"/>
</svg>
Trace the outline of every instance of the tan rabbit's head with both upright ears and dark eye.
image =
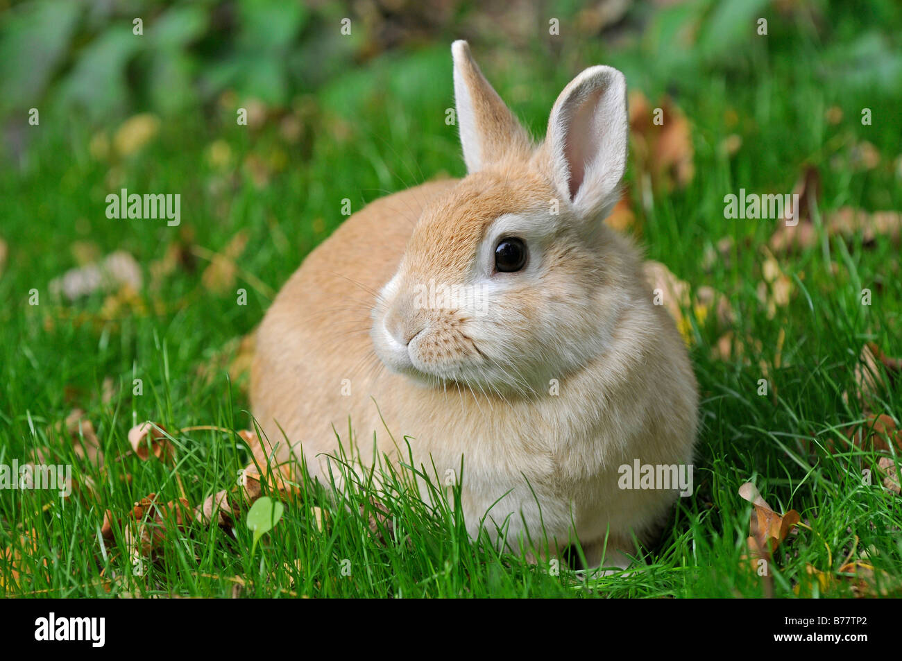
<svg viewBox="0 0 902 661">
<path fill-rule="evenodd" d="M 529 392 L 603 353 L 628 303 L 630 256 L 604 224 L 627 158 L 626 82 L 585 69 L 534 145 L 452 45 L 467 176 L 429 202 L 373 309 L 392 371 L 474 392 Z"/>
</svg>

